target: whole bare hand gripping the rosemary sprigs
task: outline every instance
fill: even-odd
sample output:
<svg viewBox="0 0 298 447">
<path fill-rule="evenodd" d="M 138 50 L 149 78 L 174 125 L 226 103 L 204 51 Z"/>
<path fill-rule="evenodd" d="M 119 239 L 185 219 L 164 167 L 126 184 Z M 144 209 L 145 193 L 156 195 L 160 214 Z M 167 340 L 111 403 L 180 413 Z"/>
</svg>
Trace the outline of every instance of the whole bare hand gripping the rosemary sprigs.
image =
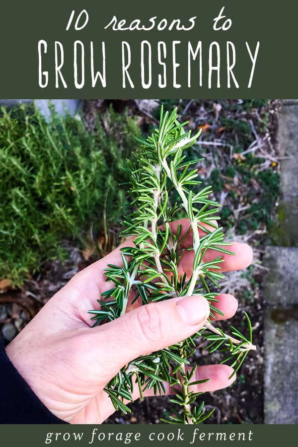
<svg viewBox="0 0 298 447">
<path fill-rule="evenodd" d="M 178 221 L 172 223 L 172 230 Z M 182 234 L 189 222 L 184 219 Z M 200 230 L 201 231 L 201 230 Z M 203 232 L 201 231 L 201 234 Z M 184 244 L 191 244 L 188 234 Z M 132 240 L 122 246 L 132 245 Z M 57 417 L 71 423 L 101 423 L 114 412 L 103 391 L 106 383 L 136 357 L 158 351 L 200 330 L 209 316 L 208 301 L 201 296 L 172 298 L 128 308 L 127 313 L 102 326 L 90 328 L 90 309 L 98 307 L 101 293 L 112 286 L 105 281 L 108 264 L 120 265 L 120 248 L 82 270 L 61 289 L 21 333 L 7 346 L 15 368 L 44 405 Z M 252 250 L 234 242 L 234 256 L 224 254 L 222 271 L 247 267 Z M 209 251 L 204 260 L 221 253 Z M 191 275 L 193 252 L 185 251 L 179 268 Z M 217 319 L 230 318 L 237 309 L 231 295 L 220 295 L 215 305 L 224 312 Z M 194 385 L 196 391 L 214 391 L 232 383 L 232 369 L 226 365 L 197 368 L 194 380 L 209 378 Z M 139 397 L 135 387 L 134 398 Z M 169 387 L 166 388 L 171 393 Z M 152 394 L 152 390 L 145 395 Z"/>
</svg>

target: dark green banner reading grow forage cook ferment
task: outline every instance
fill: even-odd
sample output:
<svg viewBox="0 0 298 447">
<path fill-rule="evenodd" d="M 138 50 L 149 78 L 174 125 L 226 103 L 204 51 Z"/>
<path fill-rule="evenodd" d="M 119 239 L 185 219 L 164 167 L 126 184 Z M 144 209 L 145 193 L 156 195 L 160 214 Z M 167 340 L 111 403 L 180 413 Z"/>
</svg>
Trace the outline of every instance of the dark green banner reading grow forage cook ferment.
<svg viewBox="0 0 298 447">
<path fill-rule="evenodd" d="M 261 446 L 295 440 L 297 425 L 3 425 L 3 445 L 63 446 Z"/>
</svg>

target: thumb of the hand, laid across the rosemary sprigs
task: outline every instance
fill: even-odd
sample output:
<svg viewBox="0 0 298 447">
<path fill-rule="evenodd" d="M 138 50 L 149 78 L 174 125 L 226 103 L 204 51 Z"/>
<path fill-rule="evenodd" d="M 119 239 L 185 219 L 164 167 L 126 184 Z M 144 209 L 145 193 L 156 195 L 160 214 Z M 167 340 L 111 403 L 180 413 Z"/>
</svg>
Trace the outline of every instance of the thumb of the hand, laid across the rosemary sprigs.
<svg viewBox="0 0 298 447">
<path fill-rule="evenodd" d="M 94 328 L 111 377 L 139 356 L 158 351 L 199 331 L 209 316 L 200 295 L 171 298 L 140 306 L 120 318 Z M 104 340 L 104 343 L 103 343 Z"/>
</svg>

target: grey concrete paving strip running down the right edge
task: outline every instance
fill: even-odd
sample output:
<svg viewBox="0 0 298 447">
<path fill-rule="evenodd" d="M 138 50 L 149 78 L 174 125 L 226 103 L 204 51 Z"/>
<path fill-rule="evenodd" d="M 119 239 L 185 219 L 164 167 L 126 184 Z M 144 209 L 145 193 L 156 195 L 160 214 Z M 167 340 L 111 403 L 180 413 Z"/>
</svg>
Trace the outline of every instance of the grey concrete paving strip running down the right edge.
<svg viewBox="0 0 298 447">
<path fill-rule="evenodd" d="M 265 424 L 298 424 L 298 100 L 278 117 L 282 197 L 263 264 Z M 283 246 L 280 246 L 283 245 Z"/>
</svg>

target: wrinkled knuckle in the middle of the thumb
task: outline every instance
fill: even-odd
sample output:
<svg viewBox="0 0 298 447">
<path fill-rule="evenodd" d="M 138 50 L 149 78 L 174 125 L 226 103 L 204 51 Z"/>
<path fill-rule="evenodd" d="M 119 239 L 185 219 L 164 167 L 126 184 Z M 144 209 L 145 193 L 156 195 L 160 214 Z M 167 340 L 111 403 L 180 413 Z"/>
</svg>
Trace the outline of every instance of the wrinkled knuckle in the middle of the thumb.
<svg viewBox="0 0 298 447">
<path fill-rule="evenodd" d="M 163 338 L 162 317 L 155 303 L 149 303 L 138 309 L 137 321 L 143 337 L 149 340 Z"/>
</svg>

